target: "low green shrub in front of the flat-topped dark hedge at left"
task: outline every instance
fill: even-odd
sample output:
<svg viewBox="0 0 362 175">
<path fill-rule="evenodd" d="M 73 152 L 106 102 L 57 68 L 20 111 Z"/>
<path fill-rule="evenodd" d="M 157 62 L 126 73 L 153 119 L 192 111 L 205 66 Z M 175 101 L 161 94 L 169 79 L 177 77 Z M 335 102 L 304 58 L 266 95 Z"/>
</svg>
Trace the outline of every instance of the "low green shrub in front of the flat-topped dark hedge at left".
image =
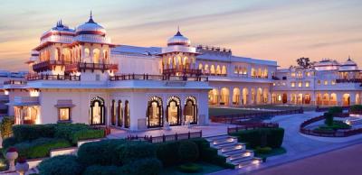
<svg viewBox="0 0 362 175">
<path fill-rule="evenodd" d="M 70 147 L 71 143 L 64 139 L 39 138 L 33 141 L 16 143 L 19 157 L 26 159 L 42 158 L 49 156 L 52 149 Z"/>
</svg>

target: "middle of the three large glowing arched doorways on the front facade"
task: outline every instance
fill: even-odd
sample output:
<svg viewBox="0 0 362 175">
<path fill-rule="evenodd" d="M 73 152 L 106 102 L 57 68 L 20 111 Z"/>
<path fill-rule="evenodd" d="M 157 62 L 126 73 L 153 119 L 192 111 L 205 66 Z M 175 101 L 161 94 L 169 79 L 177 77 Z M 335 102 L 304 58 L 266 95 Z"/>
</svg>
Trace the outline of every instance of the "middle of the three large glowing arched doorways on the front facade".
<svg viewBox="0 0 362 175">
<path fill-rule="evenodd" d="M 181 125 L 181 101 L 179 97 L 167 99 L 167 118 L 170 125 Z"/>
</svg>

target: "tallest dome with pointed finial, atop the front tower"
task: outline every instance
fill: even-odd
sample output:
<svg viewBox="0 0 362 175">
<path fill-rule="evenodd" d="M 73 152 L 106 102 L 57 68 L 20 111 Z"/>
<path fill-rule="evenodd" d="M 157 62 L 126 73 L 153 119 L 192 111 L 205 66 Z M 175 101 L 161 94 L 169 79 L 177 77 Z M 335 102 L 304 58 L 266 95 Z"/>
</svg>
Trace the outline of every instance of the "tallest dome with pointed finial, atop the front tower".
<svg viewBox="0 0 362 175">
<path fill-rule="evenodd" d="M 100 35 L 105 36 L 106 30 L 98 23 L 93 21 L 93 18 L 90 13 L 90 20 L 87 23 L 83 23 L 77 27 L 75 30 L 76 35 L 81 34 L 93 34 L 93 35 Z"/>
</svg>

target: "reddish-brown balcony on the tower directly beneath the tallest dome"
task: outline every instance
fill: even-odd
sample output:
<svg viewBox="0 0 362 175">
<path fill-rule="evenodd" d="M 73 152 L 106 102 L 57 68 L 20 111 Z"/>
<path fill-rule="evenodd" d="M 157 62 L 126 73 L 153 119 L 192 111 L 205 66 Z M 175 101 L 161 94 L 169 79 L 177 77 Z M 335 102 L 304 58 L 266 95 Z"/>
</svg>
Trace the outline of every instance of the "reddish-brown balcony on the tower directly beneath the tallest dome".
<svg viewBox="0 0 362 175">
<path fill-rule="evenodd" d="M 117 71 L 119 69 L 118 64 L 106 64 L 106 63 L 86 63 L 86 62 L 76 62 L 67 64 L 65 66 L 66 72 L 77 72 L 83 71 L 85 72 L 87 69 L 91 70 L 101 70 L 104 72 L 105 70 Z"/>
</svg>

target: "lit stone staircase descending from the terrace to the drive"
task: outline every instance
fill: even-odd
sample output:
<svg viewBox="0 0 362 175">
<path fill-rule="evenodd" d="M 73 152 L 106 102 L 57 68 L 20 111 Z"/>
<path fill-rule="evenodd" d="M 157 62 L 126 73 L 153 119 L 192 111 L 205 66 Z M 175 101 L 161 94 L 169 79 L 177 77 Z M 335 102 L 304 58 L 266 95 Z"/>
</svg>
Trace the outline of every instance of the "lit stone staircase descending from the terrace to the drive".
<svg viewBox="0 0 362 175">
<path fill-rule="evenodd" d="M 238 143 L 237 138 L 229 135 L 208 137 L 210 146 L 217 149 L 217 153 L 226 157 L 226 162 L 233 164 L 235 169 L 257 166 L 262 160 L 254 157 L 254 152 L 246 150 L 244 143 Z"/>
</svg>

